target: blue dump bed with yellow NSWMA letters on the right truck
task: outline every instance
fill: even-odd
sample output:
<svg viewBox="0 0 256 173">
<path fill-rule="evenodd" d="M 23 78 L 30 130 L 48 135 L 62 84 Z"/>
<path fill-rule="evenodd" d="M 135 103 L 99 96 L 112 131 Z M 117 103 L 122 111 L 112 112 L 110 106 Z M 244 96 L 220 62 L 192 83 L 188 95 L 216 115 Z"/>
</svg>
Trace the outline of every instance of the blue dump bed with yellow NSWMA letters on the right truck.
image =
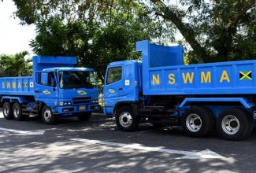
<svg viewBox="0 0 256 173">
<path fill-rule="evenodd" d="M 182 46 L 137 42 L 143 54 L 143 94 L 256 94 L 256 61 L 183 65 Z"/>
</svg>

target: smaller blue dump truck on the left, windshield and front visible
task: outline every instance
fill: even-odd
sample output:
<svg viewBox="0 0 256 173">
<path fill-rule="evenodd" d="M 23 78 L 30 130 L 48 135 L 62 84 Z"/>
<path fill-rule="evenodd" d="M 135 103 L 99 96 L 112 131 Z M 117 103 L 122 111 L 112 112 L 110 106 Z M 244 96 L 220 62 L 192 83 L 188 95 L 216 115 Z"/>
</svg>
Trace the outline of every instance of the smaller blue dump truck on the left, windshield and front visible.
<svg viewBox="0 0 256 173">
<path fill-rule="evenodd" d="M 98 111 L 98 87 L 92 68 L 75 68 L 76 57 L 33 57 L 33 75 L 0 78 L 3 116 L 23 120 L 42 117 L 53 124 L 59 117 L 81 121 Z"/>
</svg>

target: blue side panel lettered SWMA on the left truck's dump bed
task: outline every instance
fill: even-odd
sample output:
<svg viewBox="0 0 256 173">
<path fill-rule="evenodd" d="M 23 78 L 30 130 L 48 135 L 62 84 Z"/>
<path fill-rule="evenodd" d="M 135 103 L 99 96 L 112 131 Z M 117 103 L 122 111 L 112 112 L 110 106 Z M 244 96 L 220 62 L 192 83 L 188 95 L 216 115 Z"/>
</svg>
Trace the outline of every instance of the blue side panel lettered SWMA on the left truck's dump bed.
<svg viewBox="0 0 256 173">
<path fill-rule="evenodd" d="M 0 95 L 34 95 L 32 76 L 0 78 Z"/>
</svg>

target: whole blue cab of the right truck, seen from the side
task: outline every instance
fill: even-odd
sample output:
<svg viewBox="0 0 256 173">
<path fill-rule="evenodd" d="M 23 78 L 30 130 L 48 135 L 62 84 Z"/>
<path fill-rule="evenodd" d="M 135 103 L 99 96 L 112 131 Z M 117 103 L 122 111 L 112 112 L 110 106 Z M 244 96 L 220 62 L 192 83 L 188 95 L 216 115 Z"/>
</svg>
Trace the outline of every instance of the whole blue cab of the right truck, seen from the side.
<svg viewBox="0 0 256 173">
<path fill-rule="evenodd" d="M 108 65 L 103 89 L 105 115 L 112 116 L 118 106 L 127 101 L 139 101 L 141 68 L 141 61 L 117 61 Z"/>
</svg>

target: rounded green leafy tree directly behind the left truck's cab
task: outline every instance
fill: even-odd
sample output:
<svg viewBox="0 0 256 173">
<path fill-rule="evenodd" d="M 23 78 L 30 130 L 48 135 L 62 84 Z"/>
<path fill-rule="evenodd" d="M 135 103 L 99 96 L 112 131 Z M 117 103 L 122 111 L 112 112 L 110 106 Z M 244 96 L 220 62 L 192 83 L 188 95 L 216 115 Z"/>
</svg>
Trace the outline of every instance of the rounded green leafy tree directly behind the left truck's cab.
<svg viewBox="0 0 256 173">
<path fill-rule="evenodd" d="M 88 49 L 89 35 L 80 20 L 63 24 L 59 17 L 50 17 L 36 24 L 36 28 L 37 35 L 30 44 L 34 53 L 80 57 Z"/>
</svg>

